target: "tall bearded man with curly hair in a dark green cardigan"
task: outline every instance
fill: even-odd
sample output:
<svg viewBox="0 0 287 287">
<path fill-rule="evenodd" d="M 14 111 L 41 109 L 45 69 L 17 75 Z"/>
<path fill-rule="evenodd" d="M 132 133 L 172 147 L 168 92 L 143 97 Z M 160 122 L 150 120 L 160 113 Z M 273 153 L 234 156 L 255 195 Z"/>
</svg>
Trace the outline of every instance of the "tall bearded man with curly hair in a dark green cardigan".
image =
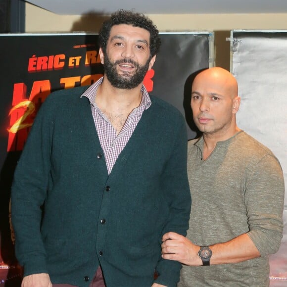
<svg viewBox="0 0 287 287">
<path fill-rule="evenodd" d="M 143 85 L 158 30 L 120 10 L 103 23 L 99 46 L 103 78 L 48 96 L 15 171 L 22 287 L 179 281 L 181 264 L 162 259 L 160 243 L 188 229 L 187 135 L 182 114 Z"/>
</svg>

